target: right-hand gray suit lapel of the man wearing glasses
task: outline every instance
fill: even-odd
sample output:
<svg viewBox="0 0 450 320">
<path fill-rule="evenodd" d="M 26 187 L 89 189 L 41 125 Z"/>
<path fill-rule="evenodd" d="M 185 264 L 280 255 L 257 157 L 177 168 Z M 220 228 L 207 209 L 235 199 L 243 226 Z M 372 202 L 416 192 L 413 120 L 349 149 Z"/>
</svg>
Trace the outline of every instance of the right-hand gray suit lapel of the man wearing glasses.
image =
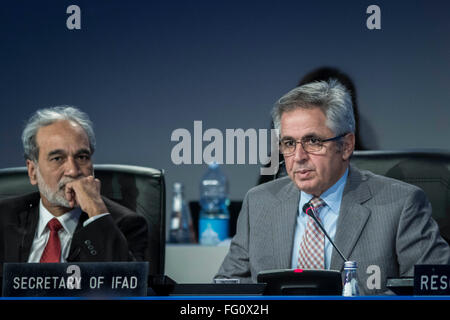
<svg viewBox="0 0 450 320">
<path fill-rule="evenodd" d="M 371 197 L 370 189 L 367 183 L 364 182 L 361 172 L 350 166 L 334 239 L 336 246 L 347 259 L 349 259 L 370 216 L 370 210 L 361 204 Z M 333 250 L 330 269 L 342 270 L 343 266 L 344 261 L 336 250 Z"/>
</svg>

